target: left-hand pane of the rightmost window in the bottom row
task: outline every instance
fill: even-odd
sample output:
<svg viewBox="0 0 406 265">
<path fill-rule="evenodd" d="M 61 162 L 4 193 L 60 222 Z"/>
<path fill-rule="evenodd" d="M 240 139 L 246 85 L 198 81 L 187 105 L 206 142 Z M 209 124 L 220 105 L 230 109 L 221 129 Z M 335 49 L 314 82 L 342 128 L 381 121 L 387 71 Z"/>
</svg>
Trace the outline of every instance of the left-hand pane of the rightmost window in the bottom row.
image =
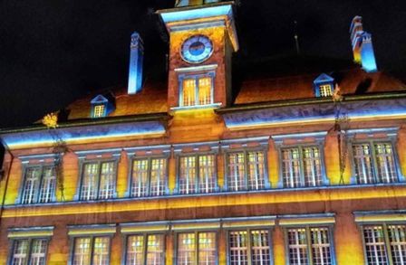
<svg viewBox="0 0 406 265">
<path fill-rule="evenodd" d="M 363 227 L 365 241 L 365 255 L 370 265 L 386 265 L 386 248 L 382 226 Z"/>
</svg>

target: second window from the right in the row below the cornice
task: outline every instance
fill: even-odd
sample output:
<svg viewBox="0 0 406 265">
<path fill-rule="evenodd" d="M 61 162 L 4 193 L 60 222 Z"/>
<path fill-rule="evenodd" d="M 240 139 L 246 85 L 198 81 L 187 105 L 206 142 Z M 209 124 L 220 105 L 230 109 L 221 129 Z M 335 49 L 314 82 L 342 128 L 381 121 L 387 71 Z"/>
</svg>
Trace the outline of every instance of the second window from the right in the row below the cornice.
<svg viewBox="0 0 406 265">
<path fill-rule="evenodd" d="M 319 147 L 282 148 L 281 153 L 284 187 L 323 185 Z"/>
</svg>

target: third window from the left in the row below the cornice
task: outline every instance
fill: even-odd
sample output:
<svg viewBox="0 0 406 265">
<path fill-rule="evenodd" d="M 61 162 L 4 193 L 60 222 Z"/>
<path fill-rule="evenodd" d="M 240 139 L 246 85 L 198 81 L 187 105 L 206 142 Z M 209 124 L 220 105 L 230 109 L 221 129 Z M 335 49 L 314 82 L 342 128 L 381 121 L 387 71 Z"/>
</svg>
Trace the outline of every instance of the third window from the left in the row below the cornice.
<svg viewBox="0 0 406 265">
<path fill-rule="evenodd" d="M 132 162 L 131 197 L 165 194 L 166 158 L 142 158 Z"/>
</svg>

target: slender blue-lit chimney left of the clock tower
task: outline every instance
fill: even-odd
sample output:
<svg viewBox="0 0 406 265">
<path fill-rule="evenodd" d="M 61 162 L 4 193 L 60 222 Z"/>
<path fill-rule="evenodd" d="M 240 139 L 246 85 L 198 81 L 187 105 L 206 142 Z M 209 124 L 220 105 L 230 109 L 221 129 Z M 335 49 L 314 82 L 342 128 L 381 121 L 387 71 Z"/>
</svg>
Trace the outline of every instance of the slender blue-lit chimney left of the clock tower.
<svg viewBox="0 0 406 265">
<path fill-rule="evenodd" d="M 131 54 L 129 71 L 129 94 L 136 94 L 142 89 L 142 62 L 144 58 L 144 45 L 139 33 L 131 34 Z"/>
</svg>

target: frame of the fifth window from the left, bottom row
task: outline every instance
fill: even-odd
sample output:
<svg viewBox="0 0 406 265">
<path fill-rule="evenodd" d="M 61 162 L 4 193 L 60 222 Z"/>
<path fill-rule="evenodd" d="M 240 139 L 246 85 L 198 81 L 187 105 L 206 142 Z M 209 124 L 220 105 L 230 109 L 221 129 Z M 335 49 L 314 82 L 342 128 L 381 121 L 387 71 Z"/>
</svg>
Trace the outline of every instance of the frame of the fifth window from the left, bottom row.
<svg viewBox="0 0 406 265">
<path fill-rule="evenodd" d="M 251 232 L 257 230 L 266 230 L 268 232 L 268 241 L 269 241 L 269 260 L 270 265 L 275 263 L 275 256 L 274 256 L 274 242 L 272 236 L 273 227 L 269 226 L 248 226 L 248 227 L 230 227 L 225 229 L 226 232 L 226 252 L 227 252 L 227 265 L 231 264 L 230 260 L 230 242 L 229 236 L 230 232 L 247 232 L 247 265 L 252 265 L 252 243 L 251 243 Z"/>
</svg>

